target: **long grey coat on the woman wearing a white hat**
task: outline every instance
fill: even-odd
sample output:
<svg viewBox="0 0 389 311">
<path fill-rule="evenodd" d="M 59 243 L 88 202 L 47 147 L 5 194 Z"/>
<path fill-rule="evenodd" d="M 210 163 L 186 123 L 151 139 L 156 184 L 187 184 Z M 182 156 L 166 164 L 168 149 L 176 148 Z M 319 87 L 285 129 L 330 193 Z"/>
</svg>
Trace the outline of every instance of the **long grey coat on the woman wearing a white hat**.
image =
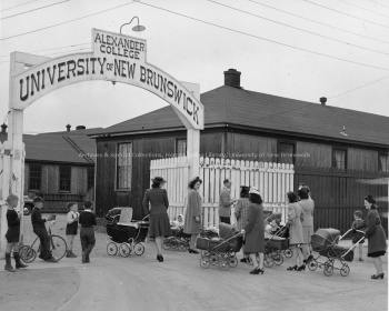
<svg viewBox="0 0 389 311">
<path fill-rule="evenodd" d="M 245 225 L 246 237 L 243 251 L 257 253 L 265 251 L 263 207 L 250 202 L 248 219 Z"/>
</svg>

